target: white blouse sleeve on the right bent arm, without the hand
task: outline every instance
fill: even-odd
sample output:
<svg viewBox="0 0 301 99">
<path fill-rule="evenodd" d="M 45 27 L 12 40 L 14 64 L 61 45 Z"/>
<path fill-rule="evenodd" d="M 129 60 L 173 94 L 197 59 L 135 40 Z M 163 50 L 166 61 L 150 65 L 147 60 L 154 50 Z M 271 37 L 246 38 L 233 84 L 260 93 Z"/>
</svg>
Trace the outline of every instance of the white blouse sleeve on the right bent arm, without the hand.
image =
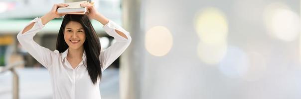
<svg viewBox="0 0 301 99">
<path fill-rule="evenodd" d="M 130 33 L 111 20 L 103 28 L 108 35 L 114 37 L 116 43 L 101 51 L 99 59 L 102 63 L 102 71 L 110 66 L 129 47 L 132 41 Z M 124 33 L 128 39 L 120 36 L 116 30 Z"/>
</svg>

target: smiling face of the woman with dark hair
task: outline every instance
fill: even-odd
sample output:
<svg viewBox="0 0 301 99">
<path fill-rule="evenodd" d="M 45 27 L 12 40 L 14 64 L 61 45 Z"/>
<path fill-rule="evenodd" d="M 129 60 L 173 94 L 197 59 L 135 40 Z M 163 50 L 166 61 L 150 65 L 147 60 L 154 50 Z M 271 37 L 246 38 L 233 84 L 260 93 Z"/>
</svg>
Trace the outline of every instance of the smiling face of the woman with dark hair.
<svg viewBox="0 0 301 99">
<path fill-rule="evenodd" d="M 85 30 L 80 23 L 70 21 L 65 27 L 64 39 L 69 49 L 82 49 L 86 40 Z"/>
</svg>

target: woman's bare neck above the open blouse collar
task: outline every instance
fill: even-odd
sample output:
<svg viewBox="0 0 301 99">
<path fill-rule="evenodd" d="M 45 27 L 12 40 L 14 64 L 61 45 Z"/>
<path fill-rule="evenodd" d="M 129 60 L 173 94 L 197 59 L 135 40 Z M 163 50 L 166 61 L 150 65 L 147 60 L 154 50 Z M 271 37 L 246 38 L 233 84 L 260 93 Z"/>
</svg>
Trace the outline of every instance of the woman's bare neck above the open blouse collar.
<svg viewBox="0 0 301 99">
<path fill-rule="evenodd" d="M 79 49 L 68 49 L 68 54 L 67 57 L 69 58 L 75 58 L 75 59 L 80 59 L 83 57 L 84 53 L 84 48 L 79 48 Z"/>
</svg>

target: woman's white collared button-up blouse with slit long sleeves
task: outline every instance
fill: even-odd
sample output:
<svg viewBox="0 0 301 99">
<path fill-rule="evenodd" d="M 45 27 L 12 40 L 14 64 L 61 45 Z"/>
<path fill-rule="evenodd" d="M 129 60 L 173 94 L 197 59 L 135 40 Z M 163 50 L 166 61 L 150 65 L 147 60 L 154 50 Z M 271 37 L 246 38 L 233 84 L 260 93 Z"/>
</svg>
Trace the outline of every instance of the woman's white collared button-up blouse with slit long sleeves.
<svg viewBox="0 0 301 99">
<path fill-rule="evenodd" d="M 58 50 L 51 51 L 33 41 L 34 35 L 39 32 L 44 25 L 41 22 L 41 18 L 38 17 L 31 22 L 35 22 L 34 26 L 24 34 L 22 34 L 24 30 L 22 29 L 18 33 L 17 39 L 22 47 L 49 71 L 53 99 L 101 99 L 99 91 L 100 81 L 98 80 L 96 84 L 93 85 L 86 69 L 86 53 L 84 52 L 83 54 L 83 61 L 73 69 L 66 58 L 68 49 L 62 53 Z M 114 37 L 117 42 L 108 49 L 101 50 L 99 56 L 103 66 L 101 71 L 104 71 L 112 64 L 112 62 L 128 48 L 132 41 L 130 33 L 111 20 L 108 24 L 104 25 L 103 28 L 105 32 Z M 128 39 L 116 33 L 115 29 L 123 32 Z"/>
</svg>

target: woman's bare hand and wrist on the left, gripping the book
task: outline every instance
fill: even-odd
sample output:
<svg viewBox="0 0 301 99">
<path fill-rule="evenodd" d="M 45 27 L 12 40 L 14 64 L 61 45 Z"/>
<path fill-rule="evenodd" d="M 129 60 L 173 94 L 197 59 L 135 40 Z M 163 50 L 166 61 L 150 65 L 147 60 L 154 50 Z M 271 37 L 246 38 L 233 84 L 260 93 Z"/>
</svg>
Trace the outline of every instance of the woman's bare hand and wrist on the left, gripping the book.
<svg viewBox="0 0 301 99">
<path fill-rule="evenodd" d="M 41 17 L 42 19 L 42 24 L 45 25 L 46 23 L 48 23 L 49 21 L 51 21 L 52 19 L 55 18 L 60 18 L 66 14 L 58 14 L 56 13 L 57 8 L 59 7 L 67 7 L 69 6 L 68 4 L 64 4 L 64 3 L 59 3 L 59 4 L 54 4 L 51 8 L 51 10 L 46 13 L 44 16 Z"/>
</svg>

